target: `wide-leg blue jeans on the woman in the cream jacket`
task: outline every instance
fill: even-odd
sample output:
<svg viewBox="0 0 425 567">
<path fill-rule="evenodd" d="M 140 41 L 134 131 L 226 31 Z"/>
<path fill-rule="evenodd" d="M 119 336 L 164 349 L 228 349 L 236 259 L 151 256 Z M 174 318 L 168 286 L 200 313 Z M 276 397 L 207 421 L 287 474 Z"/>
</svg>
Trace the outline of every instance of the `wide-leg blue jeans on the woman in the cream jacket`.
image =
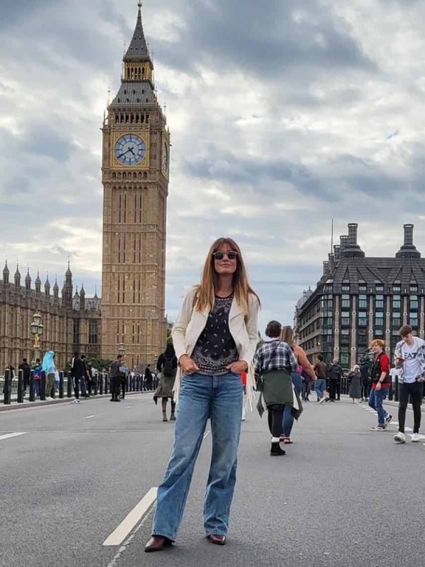
<svg viewBox="0 0 425 567">
<path fill-rule="evenodd" d="M 176 539 L 209 416 L 213 452 L 203 522 L 206 535 L 227 534 L 236 483 L 242 400 L 239 374 L 182 376 L 175 440 L 164 480 L 158 488 L 152 535 Z"/>
</svg>

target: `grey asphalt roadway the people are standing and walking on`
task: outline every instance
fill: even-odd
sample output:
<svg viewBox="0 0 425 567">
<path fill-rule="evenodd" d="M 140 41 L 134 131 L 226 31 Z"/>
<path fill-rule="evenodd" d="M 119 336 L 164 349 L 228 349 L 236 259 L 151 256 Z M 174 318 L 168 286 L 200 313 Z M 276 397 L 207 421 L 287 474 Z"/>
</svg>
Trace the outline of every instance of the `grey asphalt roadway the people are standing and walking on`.
<svg viewBox="0 0 425 567">
<path fill-rule="evenodd" d="M 376 417 L 347 399 L 305 405 L 283 457 L 248 414 L 225 547 L 203 535 L 206 434 L 177 543 L 150 554 L 154 505 L 140 518 L 173 437 L 151 395 L 1 412 L 0 565 L 423 567 L 425 438 L 398 446 L 396 426 L 369 431 Z"/>
</svg>

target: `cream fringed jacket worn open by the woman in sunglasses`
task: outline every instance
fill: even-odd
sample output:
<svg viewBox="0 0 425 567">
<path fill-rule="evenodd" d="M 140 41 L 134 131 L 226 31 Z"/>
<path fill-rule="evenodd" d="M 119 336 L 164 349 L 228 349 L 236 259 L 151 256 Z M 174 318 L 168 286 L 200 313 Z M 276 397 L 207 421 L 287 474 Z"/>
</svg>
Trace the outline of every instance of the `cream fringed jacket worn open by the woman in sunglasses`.
<svg viewBox="0 0 425 567">
<path fill-rule="evenodd" d="M 177 360 L 183 354 L 192 356 L 195 345 L 209 316 L 209 311 L 198 312 L 193 310 L 193 301 L 196 288 L 192 288 L 186 293 L 181 310 L 177 316 L 173 326 L 172 337 L 173 345 L 176 351 Z M 240 310 L 236 299 L 233 298 L 232 306 L 229 314 L 229 330 L 236 344 L 239 359 L 244 360 L 248 364 L 247 371 L 247 403 L 252 409 L 252 401 L 254 399 L 255 378 L 253 369 L 253 358 L 257 350 L 258 343 L 258 311 L 260 304 L 255 295 L 250 294 L 248 299 L 248 315 L 244 316 Z M 174 387 L 175 400 L 179 397 L 181 382 L 180 364 L 177 368 L 176 382 Z"/>
</svg>

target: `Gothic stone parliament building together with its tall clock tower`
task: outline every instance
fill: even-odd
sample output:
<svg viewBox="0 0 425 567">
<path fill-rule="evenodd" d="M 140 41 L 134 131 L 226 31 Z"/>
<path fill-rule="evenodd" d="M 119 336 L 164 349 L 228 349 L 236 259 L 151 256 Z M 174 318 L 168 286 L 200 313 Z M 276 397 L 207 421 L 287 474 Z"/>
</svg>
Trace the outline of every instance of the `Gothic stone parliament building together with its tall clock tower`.
<svg viewBox="0 0 425 567">
<path fill-rule="evenodd" d="M 31 321 L 42 320 L 41 352 L 54 350 L 59 368 L 73 350 L 126 363 L 153 362 L 165 347 L 165 225 L 170 138 L 156 99 L 154 65 L 138 3 L 133 39 L 123 59 L 121 86 L 103 122 L 103 261 L 101 298 L 73 286 L 71 266 L 59 294 L 37 273 L 24 280 L 5 264 L 0 280 L 0 373 L 33 357 Z"/>
</svg>

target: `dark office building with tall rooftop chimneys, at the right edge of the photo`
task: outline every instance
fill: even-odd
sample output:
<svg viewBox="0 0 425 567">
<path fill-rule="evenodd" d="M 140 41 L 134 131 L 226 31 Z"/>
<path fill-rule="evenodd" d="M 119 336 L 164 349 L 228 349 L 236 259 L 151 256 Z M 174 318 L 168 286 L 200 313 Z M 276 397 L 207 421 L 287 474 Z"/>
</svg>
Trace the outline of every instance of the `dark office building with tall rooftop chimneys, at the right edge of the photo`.
<svg viewBox="0 0 425 567">
<path fill-rule="evenodd" d="M 359 362 L 372 338 L 385 340 L 392 358 L 403 324 L 424 338 L 425 259 L 404 225 L 404 242 L 394 257 L 367 257 L 358 244 L 358 225 L 349 225 L 323 263 L 315 291 L 295 311 L 299 344 L 311 362 L 322 353 L 344 368 Z"/>
</svg>

